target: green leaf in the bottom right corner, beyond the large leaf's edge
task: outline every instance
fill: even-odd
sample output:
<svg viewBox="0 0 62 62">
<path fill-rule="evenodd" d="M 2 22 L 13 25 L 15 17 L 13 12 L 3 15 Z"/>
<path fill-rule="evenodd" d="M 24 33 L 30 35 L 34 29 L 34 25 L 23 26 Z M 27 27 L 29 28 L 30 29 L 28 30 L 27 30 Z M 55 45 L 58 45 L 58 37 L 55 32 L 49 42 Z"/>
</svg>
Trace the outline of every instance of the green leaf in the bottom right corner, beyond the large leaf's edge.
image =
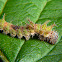
<svg viewBox="0 0 62 62">
<path fill-rule="evenodd" d="M 62 38 L 52 51 L 37 62 L 62 62 Z"/>
</svg>

